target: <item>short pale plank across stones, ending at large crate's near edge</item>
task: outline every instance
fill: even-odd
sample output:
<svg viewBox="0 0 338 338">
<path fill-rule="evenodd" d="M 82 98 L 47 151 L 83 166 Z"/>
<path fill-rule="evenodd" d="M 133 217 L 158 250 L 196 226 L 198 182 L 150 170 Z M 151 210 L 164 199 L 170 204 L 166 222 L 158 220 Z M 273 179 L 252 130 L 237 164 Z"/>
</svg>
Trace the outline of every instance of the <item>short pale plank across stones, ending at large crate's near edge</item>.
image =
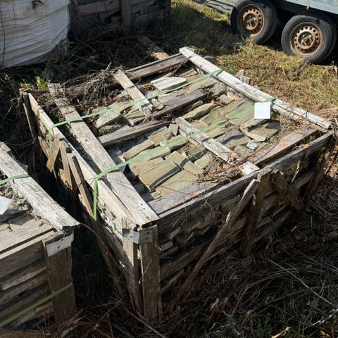
<svg viewBox="0 0 338 338">
<path fill-rule="evenodd" d="M 240 158 L 240 156 L 236 154 L 234 151 L 230 150 L 229 148 L 227 148 L 227 146 L 221 144 L 215 139 L 212 139 L 205 132 L 201 132 L 201 130 L 194 127 L 191 123 L 187 122 L 186 120 L 184 120 L 184 118 L 177 118 L 177 122 L 180 127 L 180 134 L 182 134 L 183 136 L 200 132 L 199 134 L 194 135 L 192 139 L 194 139 L 196 142 L 199 142 L 199 144 L 206 147 L 206 149 L 211 151 L 219 158 L 222 158 L 222 160 L 225 161 L 225 163 L 235 165 L 236 163 L 244 162 L 244 159 Z M 256 170 L 259 170 L 259 168 L 256 165 L 250 163 L 249 161 L 245 161 L 244 163 L 239 164 L 238 168 L 243 175 L 248 175 Z"/>
</svg>

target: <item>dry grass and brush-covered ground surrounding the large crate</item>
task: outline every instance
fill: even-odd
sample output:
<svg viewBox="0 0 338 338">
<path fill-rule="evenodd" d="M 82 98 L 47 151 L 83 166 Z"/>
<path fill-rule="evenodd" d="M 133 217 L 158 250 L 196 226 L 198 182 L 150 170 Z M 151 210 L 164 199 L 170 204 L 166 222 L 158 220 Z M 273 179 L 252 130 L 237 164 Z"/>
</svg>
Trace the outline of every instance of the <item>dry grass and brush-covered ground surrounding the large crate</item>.
<svg viewBox="0 0 338 338">
<path fill-rule="evenodd" d="M 0 139 L 27 162 L 32 140 L 26 132 L 18 132 L 24 124 L 16 101 L 18 89 L 43 90 L 49 80 L 75 77 L 83 82 L 87 73 L 94 76 L 108 64 L 126 69 L 151 61 L 137 45 L 138 33 L 116 39 L 100 35 L 85 43 L 75 39 L 64 58 L 3 73 Z M 256 46 L 230 33 L 227 15 L 188 0 L 173 1 L 170 23 L 158 22 L 145 33 L 168 54 L 190 46 L 232 74 L 245 69 L 263 91 L 337 125 L 338 58 L 322 65 L 306 64 L 282 54 L 277 36 Z M 320 330 L 311 328 L 338 307 L 337 177 L 334 163 L 297 219 L 258 244 L 248 258 L 225 255 L 208 264 L 175 311 L 151 328 L 135 320 L 113 296 L 104 263 L 82 231 L 78 235 L 82 242 L 74 252 L 81 311 L 65 328 L 76 327 L 66 337 L 337 337 L 336 318 Z M 54 337 L 61 337 L 61 332 Z"/>
</svg>

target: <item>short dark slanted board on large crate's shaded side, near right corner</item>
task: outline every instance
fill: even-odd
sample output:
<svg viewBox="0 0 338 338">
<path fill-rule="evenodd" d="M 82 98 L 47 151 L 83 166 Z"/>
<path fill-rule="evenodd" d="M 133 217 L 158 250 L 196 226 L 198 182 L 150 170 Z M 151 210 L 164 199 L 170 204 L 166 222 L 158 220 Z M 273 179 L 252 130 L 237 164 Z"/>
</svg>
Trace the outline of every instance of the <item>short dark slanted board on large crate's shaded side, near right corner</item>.
<svg viewBox="0 0 338 338">
<path fill-rule="evenodd" d="M 287 180 L 285 180 L 284 175 L 280 170 L 274 171 L 271 184 L 289 206 L 296 211 L 301 211 L 303 209 L 303 200 L 301 199 L 301 196 L 299 196 L 299 191 L 292 183 L 287 183 Z"/>
</svg>

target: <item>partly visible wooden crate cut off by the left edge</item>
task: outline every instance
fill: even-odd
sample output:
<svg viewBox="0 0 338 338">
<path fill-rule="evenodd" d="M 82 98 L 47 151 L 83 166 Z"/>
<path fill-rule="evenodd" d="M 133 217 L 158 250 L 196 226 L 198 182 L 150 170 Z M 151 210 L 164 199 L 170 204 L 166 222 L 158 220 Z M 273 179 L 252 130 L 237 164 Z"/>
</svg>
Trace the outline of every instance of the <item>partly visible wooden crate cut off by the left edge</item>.
<svg viewBox="0 0 338 338">
<path fill-rule="evenodd" d="M 27 175 L 0 143 L 0 337 L 4 328 L 34 328 L 75 315 L 73 230 L 78 223 Z M 6 199 L 7 200 L 6 200 Z M 15 331 L 18 333 L 18 331 Z M 13 334 L 14 335 L 14 334 Z"/>
</svg>

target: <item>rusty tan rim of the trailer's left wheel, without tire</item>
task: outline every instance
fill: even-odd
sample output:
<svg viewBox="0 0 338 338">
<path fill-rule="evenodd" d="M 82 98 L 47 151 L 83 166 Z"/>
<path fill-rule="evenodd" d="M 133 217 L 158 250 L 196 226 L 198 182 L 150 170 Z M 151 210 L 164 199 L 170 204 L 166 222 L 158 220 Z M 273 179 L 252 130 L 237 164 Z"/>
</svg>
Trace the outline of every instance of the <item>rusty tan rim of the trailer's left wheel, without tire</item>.
<svg viewBox="0 0 338 338">
<path fill-rule="evenodd" d="M 257 37 L 264 27 L 264 14 L 255 4 L 244 6 L 237 16 L 237 27 L 244 36 Z"/>
</svg>

